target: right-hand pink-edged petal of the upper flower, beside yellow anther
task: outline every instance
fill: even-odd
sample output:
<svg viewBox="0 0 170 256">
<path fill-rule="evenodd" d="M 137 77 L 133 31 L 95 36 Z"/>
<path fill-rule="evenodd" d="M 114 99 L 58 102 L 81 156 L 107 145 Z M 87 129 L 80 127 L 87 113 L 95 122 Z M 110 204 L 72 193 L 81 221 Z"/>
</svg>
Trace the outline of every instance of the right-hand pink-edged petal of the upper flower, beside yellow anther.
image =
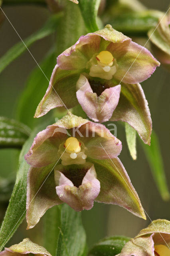
<svg viewBox="0 0 170 256">
<path fill-rule="evenodd" d="M 107 50 L 117 61 L 117 72 L 114 77 L 128 84 L 146 80 L 160 63 L 143 46 L 126 40 L 122 44 L 111 43 Z"/>
</svg>

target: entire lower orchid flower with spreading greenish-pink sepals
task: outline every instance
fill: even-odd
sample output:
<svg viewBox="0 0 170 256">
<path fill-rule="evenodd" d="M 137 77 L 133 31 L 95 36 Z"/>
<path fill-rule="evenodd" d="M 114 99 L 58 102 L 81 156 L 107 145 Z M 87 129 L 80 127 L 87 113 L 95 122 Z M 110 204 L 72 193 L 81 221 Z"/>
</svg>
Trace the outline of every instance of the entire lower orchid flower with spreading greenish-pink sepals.
<svg viewBox="0 0 170 256">
<path fill-rule="evenodd" d="M 34 227 L 45 211 L 63 202 L 89 210 L 93 202 L 118 204 L 145 218 L 123 164 L 121 141 L 102 124 L 70 112 L 34 139 L 25 159 L 28 172 L 27 222 Z"/>
</svg>

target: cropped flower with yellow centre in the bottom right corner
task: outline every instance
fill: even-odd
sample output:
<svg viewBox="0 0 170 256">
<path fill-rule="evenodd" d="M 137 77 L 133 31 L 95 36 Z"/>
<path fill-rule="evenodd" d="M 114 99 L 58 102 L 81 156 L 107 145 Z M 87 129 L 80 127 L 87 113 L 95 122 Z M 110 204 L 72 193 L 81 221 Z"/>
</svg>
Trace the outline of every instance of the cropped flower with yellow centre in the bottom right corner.
<svg viewBox="0 0 170 256">
<path fill-rule="evenodd" d="M 119 256 L 170 256 L 169 246 L 170 221 L 158 219 L 130 239 Z"/>
</svg>

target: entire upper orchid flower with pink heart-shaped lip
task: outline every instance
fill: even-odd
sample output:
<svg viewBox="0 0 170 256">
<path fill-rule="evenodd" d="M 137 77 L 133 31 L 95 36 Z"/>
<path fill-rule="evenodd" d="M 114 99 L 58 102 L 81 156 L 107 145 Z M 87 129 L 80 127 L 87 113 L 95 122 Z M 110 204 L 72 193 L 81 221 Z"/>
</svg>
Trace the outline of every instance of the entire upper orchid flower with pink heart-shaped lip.
<svg viewBox="0 0 170 256">
<path fill-rule="evenodd" d="M 89 118 L 96 122 L 115 119 L 116 111 L 117 120 L 128 122 L 142 140 L 149 143 L 152 122 L 144 93 L 137 83 L 147 79 L 158 65 L 146 48 L 107 25 L 81 36 L 75 45 L 58 56 L 35 117 L 59 106 L 73 108 L 79 102 Z M 124 96 L 126 105 L 121 100 Z M 142 107 L 134 104 L 136 99 L 144 102 Z M 117 108 L 121 108 L 121 112 Z M 129 112 L 133 112 L 130 122 Z M 140 128 L 141 123 L 144 129 Z"/>
</svg>

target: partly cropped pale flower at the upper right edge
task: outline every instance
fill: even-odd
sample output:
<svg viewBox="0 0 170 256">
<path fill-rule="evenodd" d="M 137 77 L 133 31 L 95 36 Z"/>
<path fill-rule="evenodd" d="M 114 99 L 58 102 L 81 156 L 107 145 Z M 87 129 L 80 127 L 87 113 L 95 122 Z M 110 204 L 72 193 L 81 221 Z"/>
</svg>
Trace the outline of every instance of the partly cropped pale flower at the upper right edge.
<svg viewBox="0 0 170 256">
<path fill-rule="evenodd" d="M 156 58 L 170 70 L 170 11 L 159 18 L 156 28 L 148 31 L 148 37 Z"/>
</svg>

